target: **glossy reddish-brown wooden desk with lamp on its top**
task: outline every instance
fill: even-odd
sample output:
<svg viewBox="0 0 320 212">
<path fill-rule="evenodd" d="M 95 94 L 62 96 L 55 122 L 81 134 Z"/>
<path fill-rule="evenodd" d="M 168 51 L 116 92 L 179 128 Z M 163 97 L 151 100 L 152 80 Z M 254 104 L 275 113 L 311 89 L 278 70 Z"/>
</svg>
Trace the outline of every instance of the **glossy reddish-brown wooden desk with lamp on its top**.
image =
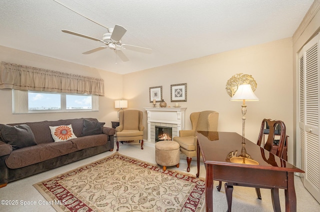
<svg viewBox="0 0 320 212">
<path fill-rule="evenodd" d="M 197 176 L 199 175 L 200 150 L 205 165 L 206 211 L 213 211 L 213 180 L 241 183 L 247 186 L 285 189 L 285 211 L 296 211 L 294 172 L 303 172 L 282 158 L 272 154 L 235 132 L 197 132 Z M 242 142 L 245 144 L 242 145 Z M 227 159 L 232 151 L 241 153 L 242 146 L 258 165 L 233 163 Z M 233 152 L 234 153 L 234 152 Z M 232 189 L 231 191 L 232 195 Z M 228 211 L 231 211 L 229 205 Z"/>
</svg>

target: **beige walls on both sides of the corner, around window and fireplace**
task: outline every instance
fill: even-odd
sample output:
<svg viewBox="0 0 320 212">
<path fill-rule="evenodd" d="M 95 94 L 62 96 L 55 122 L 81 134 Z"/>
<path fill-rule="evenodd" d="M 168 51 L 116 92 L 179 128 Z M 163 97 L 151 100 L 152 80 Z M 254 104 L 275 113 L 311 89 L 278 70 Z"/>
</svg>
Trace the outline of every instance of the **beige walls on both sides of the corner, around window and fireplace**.
<svg viewBox="0 0 320 212">
<path fill-rule="evenodd" d="M 192 49 L 190 49 L 192 50 Z M 246 137 L 256 141 L 262 118 L 281 119 L 287 126 L 289 138 L 288 159 L 292 161 L 292 39 L 273 42 L 191 59 L 179 63 L 119 75 L 54 58 L 0 46 L 0 60 L 17 64 L 47 68 L 92 77 L 102 77 L 105 96 L 99 97 L 98 112 L 67 112 L 45 114 L 12 114 L 11 90 L 1 89 L 0 122 L 56 120 L 73 117 L 96 117 L 110 126 L 116 119 L 114 100 L 128 100 L 128 109 L 144 112 L 149 103 L 149 87 L 162 85 L 163 99 L 170 102 L 170 84 L 187 83 L 185 128 L 190 128 L 189 115 L 193 111 L 216 110 L 219 112 L 220 131 L 241 134 L 241 102 L 229 101 L 226 81 L 236 73 L 251 74 L 257 82 L 255 94 L 260 101 L 247 102 Z M 122 86 L 123 85 L 123 86 Z"/>
</svg>

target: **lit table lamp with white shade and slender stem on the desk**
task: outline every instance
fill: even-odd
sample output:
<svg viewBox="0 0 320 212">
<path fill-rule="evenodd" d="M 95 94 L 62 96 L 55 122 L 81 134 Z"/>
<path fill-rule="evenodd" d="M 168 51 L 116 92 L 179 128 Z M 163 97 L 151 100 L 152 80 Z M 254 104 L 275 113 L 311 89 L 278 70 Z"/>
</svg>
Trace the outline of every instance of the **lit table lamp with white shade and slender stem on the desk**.
<svg viewBox="0 0 320 212">
<path fill-rule="evenodd" d="M 258 97 L 253 93 L 250 84 L 240 84 L 234 95 L 230 98 L 231 101 L 242 101 L 242 137 L 244 137 L 245 131 L 245 113 L 246 104 L 245 101 L 258 101 Z"/>
</svg>

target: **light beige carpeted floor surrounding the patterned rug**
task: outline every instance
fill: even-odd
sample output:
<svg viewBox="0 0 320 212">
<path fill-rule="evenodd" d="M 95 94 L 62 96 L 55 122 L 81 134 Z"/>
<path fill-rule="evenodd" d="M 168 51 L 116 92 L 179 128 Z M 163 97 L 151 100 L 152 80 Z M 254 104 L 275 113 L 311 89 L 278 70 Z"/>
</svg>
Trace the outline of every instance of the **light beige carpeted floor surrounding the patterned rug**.
<svg viewBox="0 0 320 212">
<path fill-rule="evenodd" d="M 86 159 L 82 159 L 71 164 L 63 165 L 61 167 L 45 171 L 42 173 L 35 174 L 14 182 L 8 183 L 7 186 L 0 188 L 0 199 L 4 200 L 17 200 L 18 204 L 3 205 L 0 204 L 0 211 L 7 212 L 34 212 L 34 211 L 45 211 L 54 212 L 56 211 L 49 204 L 41 204 L 39 201 L 46 201 L 46 199 L 35 189 L 32 185 L 58 174 L 67 172 L 76 167 L 88 164 L 90 162 L 99 160 L 103 157 L 113 154 L 113 152 L 107 151 L 101 154 L 91 156 Z M 119 153 L 134 157 L 140 160 L 144 160 L 153 164 L 155 162 L 155 150 L 154 145 L 145 144 L 144 149 L 140 149 L 139 143 L 124 143 L 120 144 Z M 180 165 L 179 168 L 175 166 L 168 167 L 175 170 L 183 171 L 186 170 L 185 155 L 180 154 Z M 192 159 L 190 166 L 190 174 L 195 175 L 196 173 L 196 161 Z M 200 177 L 205 177 L 205 169 L 203 162 L 200 162 Z M 217 181 L 214 182 L 214 186 L 217 185 Z M 300 178 L 294 176 L 294 185 L 297 198 L 297 211 L 298 212 L 317 212 L 320 211 L 320 204 L 312 197 L 312 195 L 304 188 Z M 232 211 L 246 211 L 246 212 L 272 212 L 271 195 L 269 189 L 261 189 L 262 199 L 257 199 L 254 188 L 235 186 L 232 193 Z M 284 191 L 279 190 L 280 203 L 282 211 L 284 211 Z M 30 202 L 35 202 L 31 204 Z M 227 205 L 225 200 L 224 189 L 218 192 L 213 189 L 213 211 L 220 212 L 226 211 Z"/>
</svg>

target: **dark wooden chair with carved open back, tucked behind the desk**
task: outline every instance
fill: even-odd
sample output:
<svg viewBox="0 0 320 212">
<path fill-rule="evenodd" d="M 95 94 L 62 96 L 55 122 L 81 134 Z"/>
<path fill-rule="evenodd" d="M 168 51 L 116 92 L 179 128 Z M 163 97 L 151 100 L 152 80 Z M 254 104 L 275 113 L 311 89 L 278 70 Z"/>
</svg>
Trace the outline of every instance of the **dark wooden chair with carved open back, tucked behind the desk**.
<svg viewBox="0 0 320 212">
<path fill-rule="evenodd" d="M 269 126 L 269 130 L 268 130 L 266 142 L 262 143 L 262 140 L 264 140 L 263 135 L 265 135 L 264 129 L 266 127 L 266 124 Z M 276 131 L 276 130 L 278 130 L 278 131 Z M 271 119 L 264 118 L 261 123 L 257 144 L 261 147 L 263 146 L 264 149 L 271 152 L 272 146 L 273 146 L 273 141 L 274 141 L 274 135 L 279 136 L 279 143 L 278 143 L 278 148 L 276 149 L 276 151 L 272 152 L 272 153 L 276 154 L 278 157 L 282 157 L 283 147 L 284 147 L 284 142 L 285 142 L 285 125 L 284 125 L 283 121 L 281 121 L 281 120 L 271 120 Z M 264 151 L 261 151 L 261 152 L 264 153 Z M 270 154 L 270 156 L 271 156 L 271 154 Z M 272 165 L 272 163 L 270 163 L 270 164 Z M 276 163 L 275 163 L 275 165 L 276 165 Z M 228 182 L 226 182 L 224 184 L 226 201 L 228 204 L 228 208 L 230 208 L 230 209 L 231 209 L 231 202 L 232 202 L 232 191 L 231 190 L 233 188 L 233 185 L 248 186 L 248 187 L 250 186 L 250 185 L 246 185 L 246 184 L 244 185 L 244 184 L 240 184 L 240 183 L 233 183 L 232 185 L 228 185 Z M 220 188 L 221 188 L 221 181 L 219 181 L 219 185 L 217 186 L 218 190 Z M 265 188 L 268 188 L 268 187 L 265 187 Z M 260 188 L 255 187 L 255 191 L 256 191 L 257 198 L 261 199 Z M 271 198 L 272 198 L 273 210 L 274 211 L 281 211 L 278 188 L 271 188 Z"/>
</svg>

